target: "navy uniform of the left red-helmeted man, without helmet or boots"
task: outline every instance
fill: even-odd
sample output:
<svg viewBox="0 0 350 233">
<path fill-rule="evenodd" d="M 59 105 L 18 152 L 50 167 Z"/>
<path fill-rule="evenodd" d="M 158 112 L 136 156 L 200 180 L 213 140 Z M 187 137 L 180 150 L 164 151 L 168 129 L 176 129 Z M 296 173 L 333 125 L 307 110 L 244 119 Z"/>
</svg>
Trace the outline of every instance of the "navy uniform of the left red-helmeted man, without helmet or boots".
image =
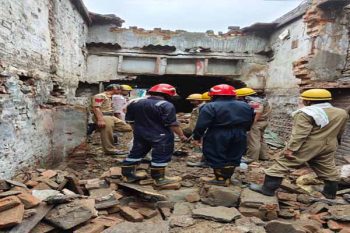
<svg viewBox="0 0 350 233">
<path fill-rule="evenodd" d="M 178 125 L 174 105 L 161 97 L 140 99 L 129 104 L 125 120 L 134 126 L 134 144 L 124 165 L 139 163 L 152 149 L 151 165 L 167 166 L 174 151 L 170 127 Z"/>
</svg>

